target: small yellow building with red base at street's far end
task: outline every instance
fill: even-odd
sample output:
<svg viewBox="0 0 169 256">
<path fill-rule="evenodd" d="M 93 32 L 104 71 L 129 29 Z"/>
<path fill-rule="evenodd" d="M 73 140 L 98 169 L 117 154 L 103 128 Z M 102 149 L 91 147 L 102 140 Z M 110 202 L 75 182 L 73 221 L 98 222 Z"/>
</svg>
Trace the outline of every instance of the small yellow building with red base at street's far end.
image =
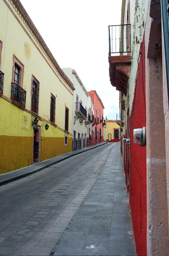
<svg viewBox="0 0 169 256">
<path fill-rule="evenodd" d="M 116 120 L 106 119 L 106 141 L 118 142 L 120 141 L 120 128 Z"/>
</svg>

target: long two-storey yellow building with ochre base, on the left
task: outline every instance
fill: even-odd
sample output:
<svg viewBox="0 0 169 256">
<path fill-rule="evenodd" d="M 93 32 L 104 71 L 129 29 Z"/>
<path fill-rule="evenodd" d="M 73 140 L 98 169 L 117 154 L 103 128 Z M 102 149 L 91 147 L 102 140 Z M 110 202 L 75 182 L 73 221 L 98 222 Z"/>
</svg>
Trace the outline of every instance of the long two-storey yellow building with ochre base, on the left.
<svg viewBox="0 0 169 256">
<path fill-rule="evenodd" d="M 5 173 L 72 151 L 75 88 L 20 1 L 0 0 L 0 6 L 0 173 Z"/>
</svg>

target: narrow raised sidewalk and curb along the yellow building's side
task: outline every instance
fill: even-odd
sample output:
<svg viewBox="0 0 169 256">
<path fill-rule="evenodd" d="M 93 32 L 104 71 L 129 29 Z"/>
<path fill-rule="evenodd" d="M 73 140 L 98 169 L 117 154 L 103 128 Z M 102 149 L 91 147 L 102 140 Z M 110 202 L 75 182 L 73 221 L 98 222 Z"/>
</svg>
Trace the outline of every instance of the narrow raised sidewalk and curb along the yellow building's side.
<svg viewBox="0 0 169 256">
<path fill-rule="evenodd" d="M 97 145 L 94 146 L 90 146 L 84 149 L 79 149 L 77 151 L 73 151 L 73 152 L 69 152 L 69 153 L 65 153 L 63 155 L 59 155 L 57 157 L 53 157 L 50 159 L 47 159 L 45 161 L 39 162 L 39 163 L 35 163 L 33 165 L 29 165 L 26 167 L 23 167 L 21 169 L 17 169 L 14 171 L 10 171 L 8 173 L 4 173 L 0 175 L 0 186 L 5 185 L 7 183 L 10 183 L 12 181 L 18 180 L 18 179 L 22 179 L 24 177 L 27 177 L 33 173 L 36 173 L 38 171 L 41 171 L 51 165 L 54 165 L 55 163 L 59 163 L 65 159 L 68 159 L 70 157 L 73 157 L 75 155 L 81 154 L 83 152 L 86 152 L 88 150 L 94 149 L 96 147 L 100 147 L 103 146 L 105 144 L 107 144 L 108 142 L 102 142 L 99 143 Z"/>
</svg>

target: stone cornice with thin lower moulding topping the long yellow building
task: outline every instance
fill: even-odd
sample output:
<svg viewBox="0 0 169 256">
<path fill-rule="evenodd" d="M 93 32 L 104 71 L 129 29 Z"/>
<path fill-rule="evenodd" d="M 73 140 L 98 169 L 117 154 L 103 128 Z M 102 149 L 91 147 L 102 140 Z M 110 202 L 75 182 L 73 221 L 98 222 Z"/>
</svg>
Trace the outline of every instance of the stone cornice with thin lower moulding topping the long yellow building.
<svg viewBox="0 0 169 256">
<path fill-rule="evenodd" d="M 48 64 L 50 64 L 53 71 L 55 71 L 55 74 L 57 75 L 58 79 L 63 83 L 65 83 L 70 89 L 70 91 L 74 91 L 75 88 L 73 86 L 73 83 L 69 80 L 69 78 L 65 75 L 65 73 L 62 71 L 62 69 L 59 67 L 57 61 L 53 57 L 51 51 L 47 47 L 45 41 L 41 37 L 40 33 L 38 32 L 37 28 L 33 24 L 31 18 L 25 11 L 23 5 L 19 0 L 3 0 L 6 5 L 9 7 L 11 12 L 17 17 L 18 21 L 20 21 L 20 24 L 24 28 L 24 30 L 27 32 L 31 40 L 34 44 L 36 44 L 36 47 L 39 49 L 41 54 L 43 53 L 43 56 L 45 57 Z"/>
</svg>

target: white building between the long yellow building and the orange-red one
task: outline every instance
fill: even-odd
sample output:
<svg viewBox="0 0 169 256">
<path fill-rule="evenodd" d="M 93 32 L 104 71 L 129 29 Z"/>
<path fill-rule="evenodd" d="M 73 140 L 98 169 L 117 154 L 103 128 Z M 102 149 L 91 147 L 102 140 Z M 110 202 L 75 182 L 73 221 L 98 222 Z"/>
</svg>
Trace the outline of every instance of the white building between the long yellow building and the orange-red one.
<svg viewBox="0 0 169 256">
<path fill-rule="evenodd" d="M 73 151 L 92 145 L 93 126 L 91 115 L 93 102 L 76 71 L 63 68 L 75 87 L 73 93 Z"/>
</svg>

